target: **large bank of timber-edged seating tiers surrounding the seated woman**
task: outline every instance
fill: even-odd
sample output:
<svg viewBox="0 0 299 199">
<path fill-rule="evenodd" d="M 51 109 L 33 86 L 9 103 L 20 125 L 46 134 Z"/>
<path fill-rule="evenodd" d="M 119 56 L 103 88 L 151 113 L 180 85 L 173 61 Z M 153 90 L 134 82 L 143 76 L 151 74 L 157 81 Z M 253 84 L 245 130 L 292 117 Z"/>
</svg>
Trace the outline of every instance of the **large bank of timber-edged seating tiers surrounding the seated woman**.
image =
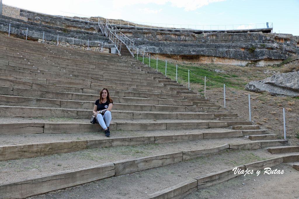
<svg viewBox="0 0 299 199">
<path fill-rule="evenodd" d="M 252 125 L 245 118 L 210 102 L 136 59 L 73 50 L 3 35 L 0 35 L 0 43 L 0 135 L 5 138 L 6 135 L 36 134 L 34 143 L 0 146 L 1 161 L 87 148 L 249 136 L 249 139 L 211 148 L 208 152 L 199 149 L 160 154 L 132 159 L 132 166 L 128 166 L 126 160 L 119 160 L 89 168 L 88 171 L 83 168 L 76 171 L 76 175 L 65 171 L 49 174 L 39 180 L 33 176 L 28 181 L 0 182 L 0 198 L 7 198 L 12 193 L 12 198 L 27 197 L 228 149 L 260 149 L 287 144 L 287 141 L 277 140 L 277 135 L 268 134 L 267 130 Z M 110 125 L 112 135 L 109 139 L 103 138 L 98 125 L 89 123 L 94 101 L 99 98 L 103 87 L 109 90 L 114 101 Z M 19 120 L 20 117 L 22 120 Z M 74 120 L 39 122 L 32 120 L 35 117 Z M 180 129 L 201 129 L 202 132 L 189 134 L 185 131 L 181 135 L 163 135 L 155 131 Z M 129 133 L 125 137 L 113 134 L 119 130 L 127 130 Z M 136 134 L 130 134 L 131 131 L 145 132 L 143 135 L 148 136 L 136 137 Z M 44 143 L 38 135 L 91 132 L 99 132 L 99 139 L 57 141 L 58 138 L 52 136 L 51 142 Z M 86 175 L 86 172 L 90 173 Z M 47 181 L 53 181 L 51 184 L 55 186 L 47 185 L 37 189 Z"/>
</svg>

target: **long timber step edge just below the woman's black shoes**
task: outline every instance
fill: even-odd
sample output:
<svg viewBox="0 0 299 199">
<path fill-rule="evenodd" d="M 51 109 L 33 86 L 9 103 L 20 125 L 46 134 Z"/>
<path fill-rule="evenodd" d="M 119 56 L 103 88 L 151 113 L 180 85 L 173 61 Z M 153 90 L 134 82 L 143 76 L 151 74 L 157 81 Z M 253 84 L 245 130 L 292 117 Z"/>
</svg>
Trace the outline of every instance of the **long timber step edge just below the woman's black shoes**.
<svg viewBox="0 0 299 199">
<path fill-rule="evenodd" d="M 96 126 L 96 125 L 94 125 Z M 13 135 L 13 134 L 9 134 Z M 57 135 L 57 134 L 56 134 Z M 89 134 L 88 134 L 89 135 Z M 26 139 L 31 135 L 26 135 Z M 13 160 L 20 158 L 33 158 L 38 156 L 74 152 L 83 149 L 117 147 L 117 146 L 136 146 L 141 144 L 165 144 L 183 141 L 195 141 L 203 139 L 218 138 L 238 138 L 242 137 L 241 131 L 228 132 L 203 132 L 200 134 L 180 134 L 180 135 L 158 135 L 158 136 L 138 136 L 138 137 L 120 137 L 120 138 L 100 138 L 85 140 L 68 140 L 68 141 L 52 141 L 44 142 L 43 138 L 53 137 L 51 134 L 43 133 L 42 138 L 35 134 L 36 141 L 32 144 L 14 144 L 0 146 L 2 153 L 0 161 Z M 83 142 L 86 142 L 83 146 Z M 81 144 L 80 144 L 81 143 Z"/>
</svg>

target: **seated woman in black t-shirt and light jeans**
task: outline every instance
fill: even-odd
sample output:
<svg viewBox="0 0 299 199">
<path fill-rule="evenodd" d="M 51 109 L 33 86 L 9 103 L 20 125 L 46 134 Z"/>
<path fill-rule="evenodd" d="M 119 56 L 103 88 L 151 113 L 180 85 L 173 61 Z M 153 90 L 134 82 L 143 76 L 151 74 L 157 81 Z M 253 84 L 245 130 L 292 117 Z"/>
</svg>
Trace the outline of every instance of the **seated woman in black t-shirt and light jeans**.
<svg viewBox="0 0 299 199">
<path fill-rule="evenodd" d="M 105 136 L 110 136 L 109 125 L 112 119 L 111 109 L 113 106 L 113 100 L 110 98 L 109 92 L 106 88 L 103 88 L 100 92 L 100 99 L 95 101 L 94 110 L 92 111 L 97 118 L 96 123 L 105 130 Z"/>
</svg>

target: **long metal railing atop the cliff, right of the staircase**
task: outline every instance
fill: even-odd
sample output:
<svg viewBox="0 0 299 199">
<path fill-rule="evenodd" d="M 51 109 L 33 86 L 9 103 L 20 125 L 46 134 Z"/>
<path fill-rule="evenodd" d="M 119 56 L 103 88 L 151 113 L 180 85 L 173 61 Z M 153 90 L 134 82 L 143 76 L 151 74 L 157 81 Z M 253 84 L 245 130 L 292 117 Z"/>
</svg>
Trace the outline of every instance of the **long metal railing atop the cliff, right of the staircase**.
<svg viewBox="0 0 299 199">
<path fill-rule="evenodd" d="M 111 20 L 110 20 L 111 21 Z M 121 22 L 125 22 L 121 24 Z M 135 24 L 135 25 L 134 25 Z M 150 28 L 150 29 L 165 29 L 165 30 L 254 30 L 273 28 L 273 23 L 260 23 L 260 24 L 234 24 L 234 25 L 188 25 L 188 24 L 160 24 L 160 23 L 147 23 L 137 21 L 120 21 L 115 24 L 112 19 L 112 25 L 121 27 L 134 27 L 134 28 Z"/>
</svg>

